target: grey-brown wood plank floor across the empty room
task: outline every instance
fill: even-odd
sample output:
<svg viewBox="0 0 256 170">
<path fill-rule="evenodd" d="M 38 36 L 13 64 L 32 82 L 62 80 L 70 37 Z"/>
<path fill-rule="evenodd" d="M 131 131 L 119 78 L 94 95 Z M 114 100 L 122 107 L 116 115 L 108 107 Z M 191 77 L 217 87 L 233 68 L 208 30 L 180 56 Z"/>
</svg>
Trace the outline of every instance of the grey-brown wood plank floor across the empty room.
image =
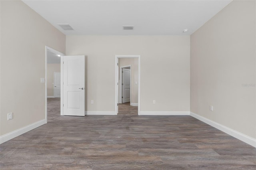
<svg viewBox="0 0 256 170">
<path fill-rule="evenodd" d="M 60 116 L 0 145 L 0 168 L 88 170 L 256 169 L 256 148 L 190 116 Z"/>
</svg>

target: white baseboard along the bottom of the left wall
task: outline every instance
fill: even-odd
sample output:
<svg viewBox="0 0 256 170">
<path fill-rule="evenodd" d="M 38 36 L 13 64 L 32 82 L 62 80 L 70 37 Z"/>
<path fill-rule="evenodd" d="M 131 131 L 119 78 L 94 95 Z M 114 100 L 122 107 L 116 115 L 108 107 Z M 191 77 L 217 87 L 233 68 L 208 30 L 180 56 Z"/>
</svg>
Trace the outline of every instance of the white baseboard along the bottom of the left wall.
<svg viewBox="0 0 256 170">
<path fill-rule="evenodd" d="M 0 144 L 45 124 L 45 119 L 0 136 Z"/>
</svg>

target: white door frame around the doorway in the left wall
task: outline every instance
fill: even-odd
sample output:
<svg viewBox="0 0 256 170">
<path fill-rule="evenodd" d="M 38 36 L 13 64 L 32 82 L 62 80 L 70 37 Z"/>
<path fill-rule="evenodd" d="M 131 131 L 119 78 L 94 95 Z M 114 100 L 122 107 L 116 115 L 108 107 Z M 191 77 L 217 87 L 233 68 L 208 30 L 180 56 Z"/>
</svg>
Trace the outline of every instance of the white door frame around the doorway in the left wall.
<svg viewBox="0 0 256 170">
<path fill-rule="evenodd" d="M 60 60 L 62 60 L 62 56 L 64 55 L 60 51 L 57 51 L 51 47 L 45 46 L 45 75 L 44 75 L 44 77 L 45 77 L 45 84 L 44 84 L 45 85 L 45 123 L 47 123 L 47 51 L 48 50 L 55 54 L 60 55 Z M 60 73 L 60 76 L 61 76 L 60 82 L 62 82 L 62 73 Z M 62 93 L 60 93 L 60 100 L 62 100 Z M 60 109 L 63 109 L 63 108 L 60 107 Z"/>
</svg>

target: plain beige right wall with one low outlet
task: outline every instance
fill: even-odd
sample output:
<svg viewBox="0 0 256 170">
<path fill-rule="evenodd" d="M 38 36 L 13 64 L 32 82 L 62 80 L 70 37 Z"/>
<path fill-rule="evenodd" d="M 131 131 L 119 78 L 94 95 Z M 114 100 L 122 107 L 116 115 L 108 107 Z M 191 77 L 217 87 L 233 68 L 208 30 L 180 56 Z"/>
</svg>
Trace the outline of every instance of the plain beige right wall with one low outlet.
<svg viewBox="0 0 256 170">
<path fill-rule="evenodd" d="M 190 42 L 191 111 L 252 138 L 256 138 L 255 7 L 255 1 L 231 2 L 192 34 Z"/>
</svg>

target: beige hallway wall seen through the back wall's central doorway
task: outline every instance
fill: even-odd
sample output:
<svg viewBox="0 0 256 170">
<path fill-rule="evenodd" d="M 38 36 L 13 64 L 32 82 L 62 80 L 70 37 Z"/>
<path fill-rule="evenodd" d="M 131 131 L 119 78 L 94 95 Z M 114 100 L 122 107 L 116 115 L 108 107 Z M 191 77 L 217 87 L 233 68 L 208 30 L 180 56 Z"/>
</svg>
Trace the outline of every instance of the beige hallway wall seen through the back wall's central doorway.
<svg viewBox="0 0 256 170">
<path fill-rule="evenodd" d="M 131 103 L 138 104 L 138 58 L 120 58 L 118 65 L 119 71 L 120 67 L 131 65 Z M 137 82 L 137 84 L 135 84 L 135 82 Z M 120 73 L 118 84 L 121 85 Z"/>
</svg>

